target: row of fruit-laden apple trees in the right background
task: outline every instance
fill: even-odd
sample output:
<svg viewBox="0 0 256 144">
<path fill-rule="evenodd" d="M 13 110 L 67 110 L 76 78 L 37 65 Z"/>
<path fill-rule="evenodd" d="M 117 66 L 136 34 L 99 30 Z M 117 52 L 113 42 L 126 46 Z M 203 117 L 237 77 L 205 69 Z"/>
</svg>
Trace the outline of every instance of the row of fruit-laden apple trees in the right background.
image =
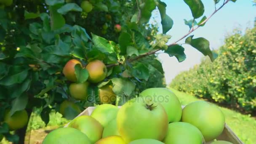
<svg viewBox="0 0 256 144">
<path fill-rule="evenodd" d="M 203 59 L 177 75 L 171 87 L 197 97 L 256 112 L 256 27 L 226 38 L 219 57 Z"/>
</svg>

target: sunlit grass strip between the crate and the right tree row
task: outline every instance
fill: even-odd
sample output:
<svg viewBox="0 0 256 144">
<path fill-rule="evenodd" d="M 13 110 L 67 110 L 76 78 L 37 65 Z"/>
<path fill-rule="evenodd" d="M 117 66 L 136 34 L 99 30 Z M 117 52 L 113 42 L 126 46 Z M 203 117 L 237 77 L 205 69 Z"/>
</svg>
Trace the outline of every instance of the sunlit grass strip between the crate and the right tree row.
<svg viewBox="0 0 256 144">
<path fill-rule="evenodd" d="M 181 101 L 182 105 L 193 101 L 200 101 L 195 96 L 176 91 L 170 88 Z M 256 119 L 251 115 L 243 115 L 231 109 L 218 106 L 225 115 L 226 123 L 245 144 L 255 144 L 256 141 Z"/>
</svg>

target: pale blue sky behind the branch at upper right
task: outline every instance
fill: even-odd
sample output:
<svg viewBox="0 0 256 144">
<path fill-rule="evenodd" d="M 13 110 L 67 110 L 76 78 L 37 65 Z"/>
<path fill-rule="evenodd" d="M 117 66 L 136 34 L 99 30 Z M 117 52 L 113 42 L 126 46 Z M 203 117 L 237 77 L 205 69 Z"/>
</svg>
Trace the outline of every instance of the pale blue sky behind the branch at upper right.
<svg viewBox="0 0 256 144">
<path fill-rule="evenodd" d="M 172 38 L 169 43 L 173 43 L 183 35 L 187 34 L 189 27 L 184 24 L 184 19 L 192 19 L 189 7 L 183 0 L 162 0 L 167 4 L 166 13 L 170 16 L 174 25 L 167 33 Z M 202 0 L 205 6 L 205 16 L 209 16 L 214 11 L 214 0 Z M 256 6 L 253 6 L 253 0 L 237 0 L 236 3 L 229 2 L 220 11 L 218 11 L 204 27 L 197 29 L 192 35 L 194 37 L 205 37 L 210 42 L 211 49 L 218 49 L 224 43 L 224 38 L 232 34 L 233 29 L 239 28 L 244 31 L 247 27 L 252 27 L 256 17 Z M 219 5 L 223 3 L 220 1 Z M 219 6 L 217 5 L 217 7 Z M 153 14 L 153 17 L 160 23 L 160 16 Z M 200 19 L 200 18 L 199 18 Z M 160 28 L 161 31 L 161 28 Z M 181 40 L 180 43 L 184 43 Z M 166 83 L 179 74 L 181 71 L 188 70 L 195 64 L 199 64 L 203 54 L 189 45 L 183 45 L 187 59 L 181 63 L 175 57 L 169 57 L 165 53 L 158 54 L 165 71 Z"/>
</svg>

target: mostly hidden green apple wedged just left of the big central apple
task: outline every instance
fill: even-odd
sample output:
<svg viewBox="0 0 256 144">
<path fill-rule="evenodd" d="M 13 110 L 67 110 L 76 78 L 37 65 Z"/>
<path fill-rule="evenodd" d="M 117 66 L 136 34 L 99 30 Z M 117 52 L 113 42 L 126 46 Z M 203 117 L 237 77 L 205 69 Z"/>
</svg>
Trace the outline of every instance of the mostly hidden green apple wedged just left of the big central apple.
<svg viewBox="0 0 256 144">
<path fill-rule="evenodd" d="M 108 137 L 108 136 L 120 136 L 120 133 L 117 129 L 117 120 L 116 118 L 108 123 L 108 125 L 104 128 L 102 133 L 102 138 Z"/>
</svg>

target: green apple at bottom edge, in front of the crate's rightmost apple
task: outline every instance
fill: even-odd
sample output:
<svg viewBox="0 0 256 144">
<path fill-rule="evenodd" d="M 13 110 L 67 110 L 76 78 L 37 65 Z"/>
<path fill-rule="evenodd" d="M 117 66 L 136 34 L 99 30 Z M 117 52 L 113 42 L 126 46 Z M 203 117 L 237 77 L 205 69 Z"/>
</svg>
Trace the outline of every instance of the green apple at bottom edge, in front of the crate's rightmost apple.
<svg viewBox="0 0 256 144">
<path fill-rule="evenodd" d="M 203 144 L 203 135 L 194 125 L 174 122 L 168 125 L 168 132 L 163 142 L 165 144 Z"/>
</svg>

